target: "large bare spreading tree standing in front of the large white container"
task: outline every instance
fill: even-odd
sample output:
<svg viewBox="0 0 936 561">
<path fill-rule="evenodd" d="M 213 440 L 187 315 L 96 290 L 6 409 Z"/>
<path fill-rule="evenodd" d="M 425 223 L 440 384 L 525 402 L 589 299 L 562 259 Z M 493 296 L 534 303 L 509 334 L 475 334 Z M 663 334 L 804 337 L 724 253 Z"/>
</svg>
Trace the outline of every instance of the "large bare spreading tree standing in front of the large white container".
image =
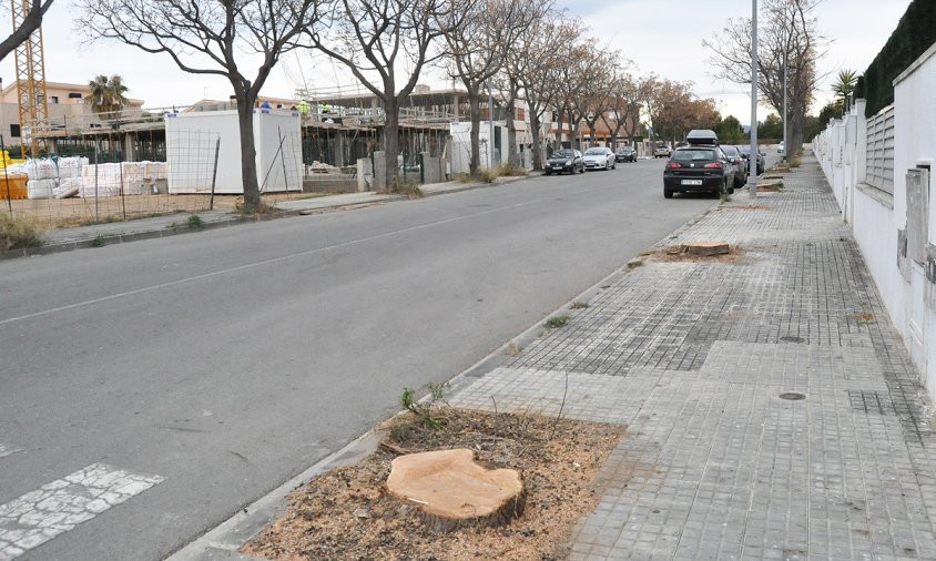
<svg viewBox="0 0 936 561">
<path fill-rule="evenodd" d="M 78 0 L 80 29 L 94 41 L 116 39 L 165 53 L 192 74 L 221 75 L 237 100 L 244 207 L 261 204 L 254 105 L 269 72 L 295 39 L 318 20 L 318 0 Z M 260 57 L 250 78 L 251 57 Z"/>
</svg>

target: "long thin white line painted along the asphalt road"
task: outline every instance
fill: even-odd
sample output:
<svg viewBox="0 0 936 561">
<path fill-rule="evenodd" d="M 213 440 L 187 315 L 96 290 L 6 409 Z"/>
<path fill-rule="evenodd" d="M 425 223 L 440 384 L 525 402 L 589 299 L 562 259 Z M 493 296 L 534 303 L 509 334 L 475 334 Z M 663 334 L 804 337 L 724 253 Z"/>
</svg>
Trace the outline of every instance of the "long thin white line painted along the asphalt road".
<svg viewBox="0 0 936 561">
<path fill-rule="evenodd" d="M 186 284 L 186 283 L 192 283 L 194 280 L 202 280 L 202 279 L 205 279 L 205 278 L 212 278 L 212 277 L 215 277 L 215 276 L 218 276 L 218 275 L 226 275 L 228 273 L 236 273 L 238 271 L 246 271 L 246 269 L 254 268 L 254 267 L 261 267 L 263 265 L 269 265 L 269 264 L 273 264 L 273 263 L 281 263 L 281 262 L 289 261 L 289 259 L 295 258 L 295 257 L 302 257 L 302 256 L 305 256 L 305 255 L 315 255 L 317 253 L 324 253 L 324 252 L 328 252 L 328 251 L 332 251 L 332 249 L 338 249 L 338 248 L 342 248 L 342 247 L 348 247 L 348 246 L 352 246 L 352 245 L 363 244 L 363 243 L 366 243 L 366 242 L 373 242 L 375 239 L 391 237 L 391 236 L 395 236 L 395 235 L 398 235 L 398 234 L 405 234 L 405 233 L 408 233 L 408 232 L 417 232 L 417 231 L 429 228 L 429 227 L 433 227 L 433 226 L 439 226 L 439 225 L 442 225 L 442 224 L 449 224 L 449 223 L 452 223 L 452 222 L 459 222 L 459 221 L 465 221 L 465 220 L 468 220 L 468 218 L 474 218 L 474 217 L 480 216 L 482 214 L 490 214 L 490 213 L 495 213 L 495 212 L 509 211 L 509 210 L 517 208 L 517 207 L 520 207 L 520 206 L 528 206 L 528 205 L 531 205 L 531 204 L 540 203 L 542 201 L 545 201 L 545 198 L 535 200 L 535 201 L 527 201 L 525 203 L 518 203 L 518 204 L 513 204 L 513 205 L 510 205 L 510 206 L 501 206 L 501 207 L 492 208 L 492 210 L 489 210 L 489 211 L 481 211 L 481 212 L 477 212 L 477 213 L 472 213 L 472 214 L 466 214 L 464 216 L 456 216 L 454 218 L 446 218 L 446 220 L 441 220 L 441 221 L 430 222 L 428 224 L 419 224 L 417 226 L 409 226 L 409 227 L 405 227 L 405 228 L 395 230 L 395 231 L 391 231 L 391 232 L 384 232 L 383 234 L 375 234 L 373 236 L 362 237 L 362 238 L 358 238 L 358 239 L 349 239 L 347 242 L 340 242 L 340 243 L 333 244 L 333 245 L 329 245 L 329 246 L 326 246 L 326 247 L 318 247 L 316 249 L 307 249 L 307 251 L 304 251 L 304 252 L 291 253 L 288 255 L 283 255 L 283 256 L 279 256 L 279 257 L 271 257 L 268 259 L 263 259 L 263 261 L 258 261 L 258 262 L 255 262 L 255 263 L 247 263 L 247 264 L 244 264 L 244 265 L 237 265 L 235 267 L 228 267 L 228 268 L 224 268 L 224 269 L 221 269 L 221 271 L 213 271 L 211 273 L 205 273 L 203 275 L 195 275 L 195 276 L 191 276 L 191 277 L 186 277 L 186 278 L 180 278 L 177 280 L 170 280 L 167 283 L 160 283 L 160 284 L 156 284 L 156 285 L 152 285 L 152 286 L 144 286 L 144 287 L 141 287 L 141 288 L 135 288 L 133 290 L 128 290 L 128 292 L 118 293 L 118 294 L 111 294 L 111 295 L 108 295 L 108 296 L 103 296 L 101 298 L 94 298 L 94 299 L 84 300 L 84 302 L 77 302 L 74 304 L 69 304 L 69 305 L 65 305 L 65 306 L 59 306 L 57 308 L 51 308 L 51 309 L 44 309 L 42 312 L 35 312 L 35 313 L 32 313 L 32 314 L 27 314 L 24 316 L 0 319 L 0 325 L 7 325 L 7 324 L 16 323 L 16 322 L 22 322 L 24 319 L 32 319 L 34 317 L 48 316 L 49 314 L 57 314 L 59 312 L 68 312 L 70 309 L 80 308 L 80 307 L 84 307 L 84 306 L 91 306 L 93 304 L 100 304 L 102 302 L 110 302 L 110 300 L 114 300 L 114 299 L 118 299 L 118 298 L 124 298 L 126 296 L 134 296 L 134 295 L 138 295 L 138 294 L 147 293 L 147 292 L 151 292 L 151 290 L 157 290 L 160 288 L 167 288 L 170 286 L 177 286 L 177 285 Z"/>
</svg>

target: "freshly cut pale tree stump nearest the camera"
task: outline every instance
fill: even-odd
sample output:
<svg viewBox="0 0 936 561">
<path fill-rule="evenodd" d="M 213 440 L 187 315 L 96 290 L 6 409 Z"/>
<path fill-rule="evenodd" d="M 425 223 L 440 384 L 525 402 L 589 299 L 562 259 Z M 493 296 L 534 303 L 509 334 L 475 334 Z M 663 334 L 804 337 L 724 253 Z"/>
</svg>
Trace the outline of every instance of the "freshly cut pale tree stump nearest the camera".
<svg viewBox="0 0 936 561">
<path fill-rule="evenodd" d="M 439 531 L 500 526 L 523 513 L 526 491 L 512 469 L 486 469 L 466 448 L 400 456 L 391 462 L 387 489 L 417 506 Z"/>
</svg>

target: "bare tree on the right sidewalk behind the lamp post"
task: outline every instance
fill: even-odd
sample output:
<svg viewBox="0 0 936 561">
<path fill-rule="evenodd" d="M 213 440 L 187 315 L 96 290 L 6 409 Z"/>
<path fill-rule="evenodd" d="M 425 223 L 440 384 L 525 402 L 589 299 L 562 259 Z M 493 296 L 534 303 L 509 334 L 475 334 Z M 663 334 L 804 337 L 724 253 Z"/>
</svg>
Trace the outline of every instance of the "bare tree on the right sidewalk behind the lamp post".
<svg viewBox="0 0 936 561">
<path fill-rule="evenodd" d="M 798 152 L 803 144 L 806 111 L 823 78 L 816 68 L 825 54 L 826 41 L 820 34 L 813 16 L 820 1 L 765 0 L 765 18 L 759 29 L 757 89 L 762 102 L 781 114 L 786 91 L 790 154 Z M 712 53 L 710 62 L 716 69 L 718 78 L 739 84 L 751 83 L 750 19 L 729 20 L 720 37 L 703 44 Z"/>
</svg>

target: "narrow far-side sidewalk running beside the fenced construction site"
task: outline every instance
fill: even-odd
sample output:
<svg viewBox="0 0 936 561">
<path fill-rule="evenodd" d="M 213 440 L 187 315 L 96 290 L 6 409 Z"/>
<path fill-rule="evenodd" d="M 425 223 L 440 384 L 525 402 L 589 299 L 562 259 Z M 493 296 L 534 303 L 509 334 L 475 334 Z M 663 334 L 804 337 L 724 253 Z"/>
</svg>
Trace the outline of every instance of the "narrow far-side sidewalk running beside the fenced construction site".
<svg viewBox="0 0 936 561">
<path fill-rule="evenodd" d="M 458 193 L 460 191 L 468 191 L 472 188 L 503 185 L 523 178 L 526 177 L 499 177 L 495 183 L 446 182 L 423 185 L 421 188 L 426 196 L 434 196 Z M 375 192 L 364 192 L 325 195 L 295 201 L 282 201 L 276 204 L 276 210 L 279 212 L 273 214 L 271 217 L 292 216 L 333 208 L 355 207 L 405 200 L 407 200 L 405 195 L 386 195 Z M 200 226 L 196 228 L 189 226 L 189 218 L 194 215 L 197 215 L 200 218 Z M 125 222 L 110 222 L 105 224 L 93 224 L 73 228 L 52 230 L 42 233 L 42 246 L 27 249 L 13 249 L 0 255 L 0 258 L 41 255 L 78 249 L 81 247 L 92 247 L 95 245 L 110 245 L 138 239 L 147 239 L 152 237 L 194 233 L 202 230 L 250 223 L 255 220 L 255 217 L 243 216 L 234 211 L 218 210 L 177 213 Z"/>
</svg>

